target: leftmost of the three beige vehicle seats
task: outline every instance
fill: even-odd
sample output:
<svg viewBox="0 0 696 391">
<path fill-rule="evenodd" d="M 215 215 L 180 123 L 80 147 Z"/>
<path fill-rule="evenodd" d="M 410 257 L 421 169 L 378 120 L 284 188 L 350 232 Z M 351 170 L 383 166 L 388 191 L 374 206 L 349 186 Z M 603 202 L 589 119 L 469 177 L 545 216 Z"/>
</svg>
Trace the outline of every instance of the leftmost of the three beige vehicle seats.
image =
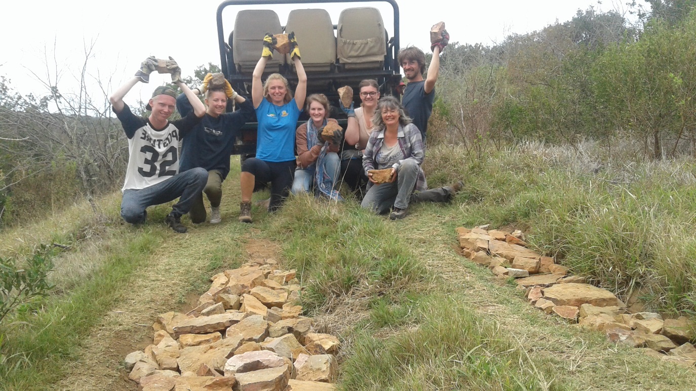
<svg viewBox="0 0 696 391">
<path fill-rule="evenodd" d="M 235 19 L 235 30 L 232 35 L 232 56 L 235 67 L 240 74 L 252 74 L 256 63 L 261 58 L 263 38 L 266 33 L 280 34 L 278 14 L 273 10 L 241 10 Z M 285 56 L 274 51 L 273 59 L 269 60 L 264 73 L 280 71 L 280 65 L 285 63 Z"/>
</svg>

